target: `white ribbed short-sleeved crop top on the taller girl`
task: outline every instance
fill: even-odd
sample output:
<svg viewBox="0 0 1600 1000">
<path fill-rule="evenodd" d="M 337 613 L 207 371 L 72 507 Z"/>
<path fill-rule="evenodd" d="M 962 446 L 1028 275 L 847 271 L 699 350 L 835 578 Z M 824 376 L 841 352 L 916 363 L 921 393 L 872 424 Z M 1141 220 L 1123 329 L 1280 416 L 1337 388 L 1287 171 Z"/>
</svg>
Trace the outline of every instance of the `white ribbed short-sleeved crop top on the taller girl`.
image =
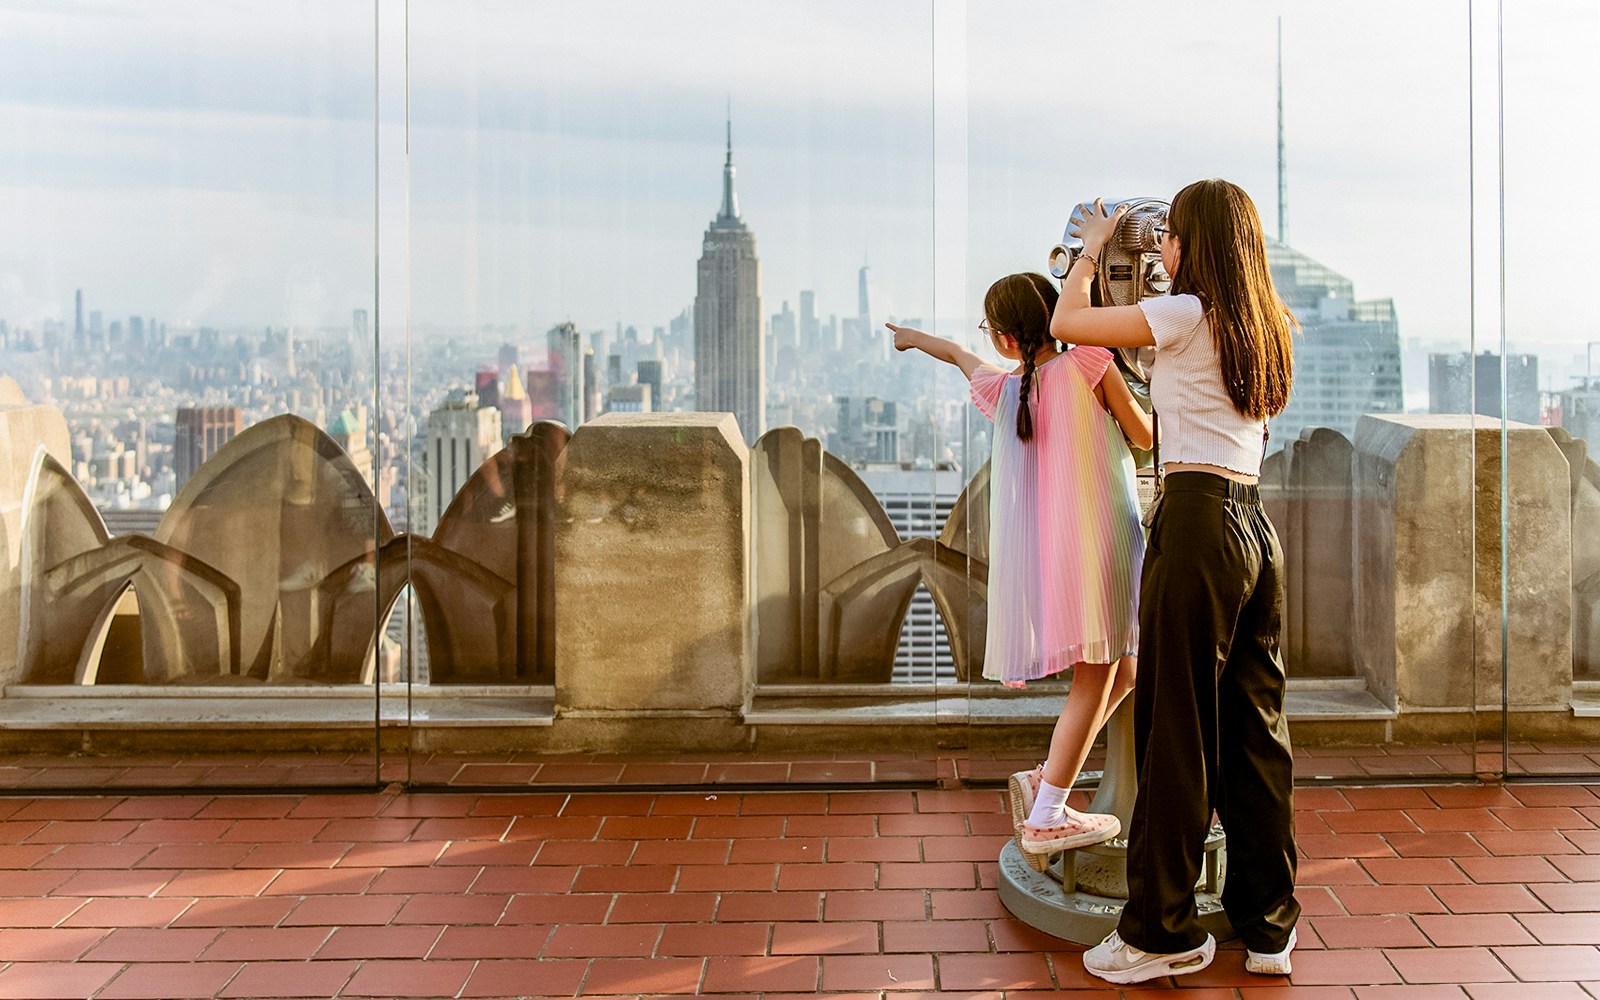
<svg viewBox="0 0 1600 1000">
<path fill-rule="evenodd" d="M 1200 299 L 1166 294 L 1144 299 L 1139 309 L 1155 334 L 1150 402 L 1162 435 L 1162 462 L 1198 462 L 1261 475 L 1266 421 L 1253 421 L 1234 408 Z"/>
</svg>

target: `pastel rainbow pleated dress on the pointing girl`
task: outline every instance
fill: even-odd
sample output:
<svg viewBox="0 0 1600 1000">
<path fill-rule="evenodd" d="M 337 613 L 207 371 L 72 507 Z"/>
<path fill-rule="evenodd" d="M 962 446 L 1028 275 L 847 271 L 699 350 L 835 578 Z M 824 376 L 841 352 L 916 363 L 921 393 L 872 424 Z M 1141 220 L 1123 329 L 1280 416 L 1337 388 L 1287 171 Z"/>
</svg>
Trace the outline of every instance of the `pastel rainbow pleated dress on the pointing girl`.
<svg viewBox="0 0 1600 1000">
<path fill-rule="evenodd" d="M 1072 347 L 1037 368 L 1034 440 L 1016 437 L 1022 378 L 982 366 L 973 402 L 995 422 L 989 458 L 984 677 L 1024 682 L 1139 648 L 1144 528 L 1133 454 L 1094 398 L 1110 352 Z"/>
</svg>

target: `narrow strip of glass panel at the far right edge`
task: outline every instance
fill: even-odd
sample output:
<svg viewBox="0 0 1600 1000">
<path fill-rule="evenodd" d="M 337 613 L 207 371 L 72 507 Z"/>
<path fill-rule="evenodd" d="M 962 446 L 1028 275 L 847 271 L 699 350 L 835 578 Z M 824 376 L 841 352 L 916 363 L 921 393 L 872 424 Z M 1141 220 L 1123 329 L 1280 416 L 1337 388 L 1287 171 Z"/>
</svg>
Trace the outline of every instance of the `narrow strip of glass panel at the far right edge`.
<svg viewBox="0 0 1600 1000">
<path fill-rule="evenodd" d="M 1506 5 L 1502 29 L 1504 261 L 1496 277 L 1504 312 L 1470 370 L 1477 411 L 1490 418 L 1480 435 L 1493 459 L 1485 461 L 1491 478 L 1480 482 L 1480 496 L 1501 542 L 1480 549 L 1480 576 L 1496 587 L 1504 613 L 1496 622 L 1504 626 L 1504 686 L 1493 694 L 1506 712 L 1506 746 L 1494 765 L 1512 778 L 1594 776 L 1600 333 L 1587 301 L 1552 290 L 1546 275 L 1552 226 L 1571 221 L 1582 229 L 1600 214 L 1600 195 L 1581 166 L 1600 154 L 1600 142 L 1576 126 L 1600 98 L 1600 13 L 1554 0 Z"/>
</svg>

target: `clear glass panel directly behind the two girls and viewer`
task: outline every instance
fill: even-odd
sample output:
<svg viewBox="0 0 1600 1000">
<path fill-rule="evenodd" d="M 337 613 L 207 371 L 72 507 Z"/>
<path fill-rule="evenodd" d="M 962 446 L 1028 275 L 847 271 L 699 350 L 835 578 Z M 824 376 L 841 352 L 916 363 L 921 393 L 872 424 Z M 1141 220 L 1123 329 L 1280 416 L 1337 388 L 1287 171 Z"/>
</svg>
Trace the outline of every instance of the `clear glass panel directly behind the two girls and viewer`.
<svg viewBox="0 0 1600 1000">
<path fill-rule="evenodd" d="M 1040 10 L 968 6 L 968 326 L 990 282 L 1045 270 L 1082 200 L 1168 200 L 1206 174 L 1250 192 L 1302 326 L 1262 469 L 1298 776 L 1472 773 L 1474 445 L 1466 418 L 1429 413 L 1429 355 L 1472 352 L 1466 6 L 1171 8 L 1130 37 L 1107 3 L 1019 32 Z M 1064 37 L 1085 40 L 1070 70 Z M 1426 253 L 1397 221 L 1426 227 Z M 990 430 L 973 427 L 970 453 Z M 1062 696 L 1014 704 L 1046 722 Z"/>
</svg>

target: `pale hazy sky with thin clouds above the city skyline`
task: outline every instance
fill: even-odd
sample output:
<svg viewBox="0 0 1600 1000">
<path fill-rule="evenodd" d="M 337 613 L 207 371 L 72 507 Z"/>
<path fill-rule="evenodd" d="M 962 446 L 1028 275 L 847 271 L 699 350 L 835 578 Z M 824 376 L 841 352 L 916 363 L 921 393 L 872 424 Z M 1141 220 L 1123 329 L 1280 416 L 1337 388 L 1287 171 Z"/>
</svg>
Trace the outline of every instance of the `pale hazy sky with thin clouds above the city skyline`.
<svg viewBox="0 0 1600 1000">
<path fill-rule="evenodd" d="M 1509 326 L 1600 339 L 1547 277 L 1600 208 L 1600 13 L 1506 6 Z M 875 314 L 965 317 L 1096 194 L 1226 176 L 1272 232 L 1280 13 L 1290 242 L 1466 346 L 1477 149 L 1488 346 L 1483 0 L 1472 77 L 1464 0 L 0 3 L 0 317 L 338 325 L 376 274 L 386 326 L 664 323 L 730 99 L 766 312 L 854 312 L 867 261 Z"/>
</svg>

